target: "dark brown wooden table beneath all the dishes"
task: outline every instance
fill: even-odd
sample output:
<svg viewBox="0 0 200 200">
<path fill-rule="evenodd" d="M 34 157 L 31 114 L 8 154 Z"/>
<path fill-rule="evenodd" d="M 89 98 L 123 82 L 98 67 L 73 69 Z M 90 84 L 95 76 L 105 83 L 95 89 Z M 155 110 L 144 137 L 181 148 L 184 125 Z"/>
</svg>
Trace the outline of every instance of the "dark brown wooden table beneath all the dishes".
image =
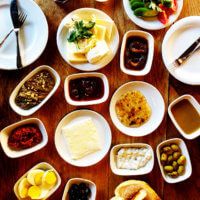
<svg viewBox="0 0 200 200">
<path fill-rule="evenodd" d="M 19 159 L 6 157 L 0 149 L 0 199 L 16 199 L 13 186 L 16 180 L 35 164 L 45 161 L 52 164 L 60 173 L 62 184 L 55 194 L 49 198 L 60 200 L 66 182 L 72 177 L 83 177 L 94 181 L 97 185 L 97 200 L 108 200 L 113 196 L 115 187 L 122 181 L 128 179 L 140 179 L 148 182 L 162 199 L 166 200 L 198 200 L 200 199 L 200 138 L 186 141 L 191 156 L 193 173 L 192 176 L 178 184 L 170 185 L 164 182 L 157 160 L 153 171 L 145 176 L 120 177 L 114 175 L 110 170 L 109 154 L 98 164 L 87 168 L 77 168 L 67 164 L 58 155 L 54 145 L 54 132 L 59 121 L 67 113 L 80 107 L 70 106 L 64 98 L 64 79 L 67 75 L 77 72 L 64 62 L 59 55 L 56 46 L 56 32 L 59 23 L 69 12 L 81 7 L 95 7 L 109 14 L 117 24 L 120 39 L 123 34 L 131 29 L 140 29 L 129 20 L 124 12 L 121 0 L 108 0 L 106 3 L 97 3 L 94 0 L 69 0 L 65 6 L 58 6 L 53 0 L 37 0 L 37 3 L 44 11 L 49 24 L 49 40 L 42 56 L 30 67 L 20 71 L 0 71 L 0 128 L 17 122 L 23 117 L 14 113 L 8 103 L 9 96 L 17 83 L 35 67 L 43 64 L 52 66 L 61 77 L 61 85 L 55 95 L 31 117 L 41 119 L 47 129 L 49 142 L 47 146 L 38 152 Z M 200 0 L 184 0 L 184 6 L 179 19 L 189 15 L 200 15 Z M 42 33 L 42 30 L 40 30 Z M 121 72 L 119 68 L 119 51 L 114 60 L 100 72 L 107 75 L 110 83 L 110 96 L 106 103 L 84 108 L 92 109 L 102 114 L 109 122 L 112 129 L 112 146 L 127 142 L 146 142 L 153 149 L 166 138 L 181 137 L 176 128 L 171 123 L 167 115 L 167 106 L 180 95 L 192 94 L 200 102 L 200 87 L 188 86 L 169 76 L 161 59 L 161 43 L 167 29 L 151 31 L 155 38 L 155 54 L 151 72 L 144 77 L 128 76 Z M 120 78 L 119 78 L 120 77 Z M 135 138 L 128 137 L 120 133 L 113 125 L 109 116 L 109 102 L 114 91 L 123 83 L 133 80 L 142 80 L 151 83 L 161 92 L 166 105 L 165 118 L 160 127 L 149 136 Z"/>
</svg>

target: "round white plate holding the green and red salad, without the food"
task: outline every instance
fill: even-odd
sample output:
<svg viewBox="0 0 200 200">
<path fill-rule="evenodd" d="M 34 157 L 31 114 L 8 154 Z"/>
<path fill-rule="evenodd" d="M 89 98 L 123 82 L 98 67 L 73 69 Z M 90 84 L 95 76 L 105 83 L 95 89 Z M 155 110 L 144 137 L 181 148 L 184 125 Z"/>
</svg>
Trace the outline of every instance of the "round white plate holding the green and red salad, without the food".
<svg viewBox="0 0 200 200">
<path fill-rule="evenodd" d="M 183 7 L 183 0 L 177 0 L 177 3 L 178 3 L 178 9 L 176 13 L 171 15 L 169 17 L 169 22 L 164 25 L 157 19 L 157 17 L 140 18 L 140 17 L 135 16 L 133 13 L 133 10 L 131 9 L 129 0 L 123 0 L 124 9 L 128 17 L 131 19 L 131 21 L 133 21 L 138 26 L 144 29 L 148 29 L 148 30 L 160 30 L 171 25 L 173 22 L 175 22 L 181 13 L 181 10 Z"/>
</svg>

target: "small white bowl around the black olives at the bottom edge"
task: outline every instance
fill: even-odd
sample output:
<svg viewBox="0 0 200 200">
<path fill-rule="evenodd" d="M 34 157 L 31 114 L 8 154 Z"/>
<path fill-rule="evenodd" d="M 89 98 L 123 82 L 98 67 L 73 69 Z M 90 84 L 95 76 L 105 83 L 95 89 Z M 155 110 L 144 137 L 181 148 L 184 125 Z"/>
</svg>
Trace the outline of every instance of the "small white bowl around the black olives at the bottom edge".
<svg viewBox="0 0 200 200">
<path fill-rule="evenodd" d="M 95 200 L 96 199 L 96 190 L 97 190 L 95 183 L 93 183 L 90 180 L 83 179 L 83 178 L 72 178 L 67 182 L 64 193 L 63 193 L 62 200 L 68 200 L 69 199 L 68 191 L 69 191 L 70 187 L 73 184 L 80 184 L 80 183 L 86 183 L 87 185 L 89 185 L 90 190 L 91 190 L 91 197 L 89 198 L 89 200 Z"/>
</svg>

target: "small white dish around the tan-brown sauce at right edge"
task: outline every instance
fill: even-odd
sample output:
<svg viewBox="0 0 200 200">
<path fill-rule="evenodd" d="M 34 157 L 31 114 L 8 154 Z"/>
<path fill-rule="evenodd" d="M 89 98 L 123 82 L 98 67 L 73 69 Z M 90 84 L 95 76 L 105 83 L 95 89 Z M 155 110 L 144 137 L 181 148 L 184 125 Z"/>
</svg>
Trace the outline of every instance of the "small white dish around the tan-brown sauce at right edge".
<svg viewBox="0 0 200 200">
<path fill-rule="evenodd" d="M 169 116 L 174 124 L 174 126 L 177 128 L 177 130 L 181 133 L 181 135 L 183 137 L 185 137 L 186 139 L 189 139 L 189 140 L 192 140 L 192 139 L 195 139 L 197 138 L 198 136 L 200 136 L 200 129 L 196 130 L 194 133 L 191 133 L 191 134 L 187 134 L 183 131 L 183 129 L 179 126 L 179 124 L 176 122 L 176 119 L 174 118 L 174 115 L 172 113 L 172 107 L 174 105 L 176 105 L 178 102 L 182 101 L 183 99 L 187 99 L 193 106 L 194 108 L 197 110 L 197 112 L 200 114 L 200 105 L 199 103 L 197 102 L 197 100 L 189 95 L 189 94 L 186 94 L 186 95 L 183 95 L 183 96 L 180 96 L 179 98 L 175 99 L 168 107 L 168 113 L 169 113 Z M 190 117 L 190 116 L 188 116 Z M 187 123 L 187 121 L 185 122 Z"/>
</svg>

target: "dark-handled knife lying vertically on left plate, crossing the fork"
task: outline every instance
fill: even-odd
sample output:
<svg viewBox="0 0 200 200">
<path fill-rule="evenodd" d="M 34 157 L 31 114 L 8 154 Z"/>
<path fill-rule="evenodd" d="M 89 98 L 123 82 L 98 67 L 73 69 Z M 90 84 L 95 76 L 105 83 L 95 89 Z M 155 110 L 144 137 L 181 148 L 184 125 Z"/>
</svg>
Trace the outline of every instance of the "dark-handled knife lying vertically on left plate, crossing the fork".
<svg viewBox="0 0 200 200">
<path fill-rule="evenodd" d="M 20 23 L 19 23 L 17 0 L 11 0 L 10 14 L 11 14 L 11 19 L 12 19 L 13 26 L 14 26 L 14 32 L 15 32 L 15 35 L 16 35 L 16 40 L 17 40 L 17 68 L 22 68 L 22 61 L 21 61 L 20 49 L 19 49 Z"/>
</svg>

